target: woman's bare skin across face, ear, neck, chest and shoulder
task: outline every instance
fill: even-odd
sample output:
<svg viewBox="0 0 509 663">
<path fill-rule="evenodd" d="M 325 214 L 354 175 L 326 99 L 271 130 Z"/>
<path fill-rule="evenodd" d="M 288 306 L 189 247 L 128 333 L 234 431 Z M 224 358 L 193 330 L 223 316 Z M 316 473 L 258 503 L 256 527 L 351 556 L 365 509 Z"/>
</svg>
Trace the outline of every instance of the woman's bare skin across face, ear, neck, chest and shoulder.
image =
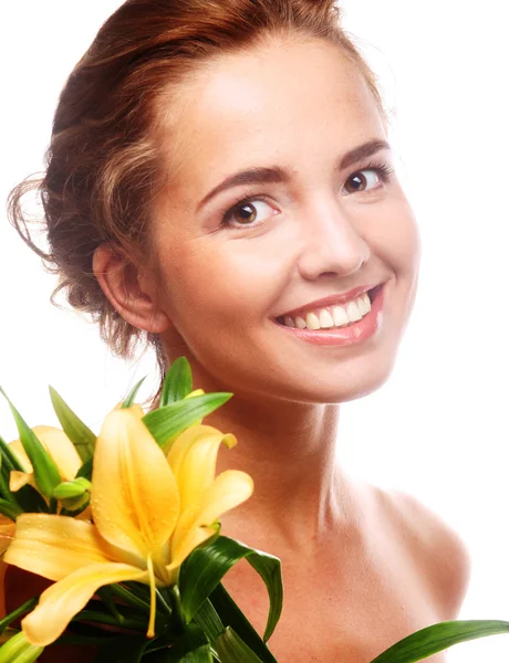
<svg viewBox="0 0 509 663">
<path fill-rule="evenodd" d="M 418 229 L 397 175 L 384 183 L 367 170 L 395 166 L 394 155 L 334 168 L 386 139 L 384 124 L 355 65 L 303 38 L 208 62 L 162 120 L 169 177 L 155 261 L 132 265 L 103 245 L 94 272 L 129 324 L 160 335 L 169 360 L 187 357 L 195 389 L 235 394 L 206 423 L 237 435 L 218 472 L 248 472 L 254 494 L 222 517 L 222 533 L 282 560 L 284 609 L 270 641 L 280 663 L 365 663 L 454 619 L 469 572 L 450 528 L 412 497 L 353 480 L 336 453 L 341 403 L 389 377 L 418 281 Z M 228 176 L 274 165 L 289 181 L 237 186 L 198 209 Z M 252 207 L 237 211 L 237 228 L 221 225 L 240 196 Z M 273 322 L 382 282 L 382 326 L 362 344 L 313 346 Z M 268 602 L 252 570 L 237 565 L 225 585 L 262 632 Z"/>
</svg>

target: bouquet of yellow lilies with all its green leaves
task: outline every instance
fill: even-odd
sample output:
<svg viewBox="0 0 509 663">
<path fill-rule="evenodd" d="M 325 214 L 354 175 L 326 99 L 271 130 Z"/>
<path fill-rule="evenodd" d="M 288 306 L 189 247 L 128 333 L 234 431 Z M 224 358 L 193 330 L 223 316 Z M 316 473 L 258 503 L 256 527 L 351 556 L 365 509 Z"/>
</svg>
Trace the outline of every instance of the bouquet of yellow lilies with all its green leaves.
<svg viewBox="0 0 509 663">
<path fill-rule="evenodd" d="M 237 439 L 202 424 L 232 394 L 193 390 L 180 357 L 145 414 L 135 403 L 142 382 L 97 436 L 51 387 L 62 430 L 30 429 L 0 388 L 20 435 L 0 438 L 3 566 L 51 582 L 0 620 L 0 663 L 31 663 L 59 643 L 93 646 L 97 663 L 277 663 L 267 641 L 282 610 L 280 560 L 220 534 L 220 516 L 253 491 L 245 472 L 216 476 L 220 445 Z M 263 636 L 221 583 L 240 559 L 269 593 Z M 372 663 L 420 661 L 505 632 L 505 621 L 443 622 Z"/>
</svg>

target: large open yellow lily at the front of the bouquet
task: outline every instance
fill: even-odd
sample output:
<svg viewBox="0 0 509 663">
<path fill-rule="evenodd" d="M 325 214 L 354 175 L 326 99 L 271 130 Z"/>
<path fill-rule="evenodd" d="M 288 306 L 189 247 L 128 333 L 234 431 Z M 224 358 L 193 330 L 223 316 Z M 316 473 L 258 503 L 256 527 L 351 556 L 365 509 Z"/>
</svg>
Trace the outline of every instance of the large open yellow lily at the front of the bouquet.
<svg viewBox="0 0 509 663">
<path fill-rule="evenodd" d="M 216 532 L 220 515 L 252 493 L 251 477 L 215 477 L 221 442 L 233 435 L 194 425 L 166 457 L 141 409 L 115 409 L 96 441 L 93 524 L 66 516 L 22 514 L 6 561 L 56 582 L 22 621 L 34 645 L 51 644 L 96 590 L 136 580 L 150 586 L 147 636 L 154 636 L 156 586 L 174 585 L 185 558 Z"/>
</svg>

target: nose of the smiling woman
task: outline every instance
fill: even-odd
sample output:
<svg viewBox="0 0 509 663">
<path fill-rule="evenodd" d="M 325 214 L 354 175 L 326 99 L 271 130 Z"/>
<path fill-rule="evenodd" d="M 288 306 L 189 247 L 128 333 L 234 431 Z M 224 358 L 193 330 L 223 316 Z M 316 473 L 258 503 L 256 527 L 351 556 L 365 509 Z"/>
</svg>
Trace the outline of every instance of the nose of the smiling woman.
<svg viewBox="0 0 509 663">
<path fill-rule="evenodd" d="M 371 257 L 371 249 L 353 219 L 336 200 L 308 208 L 302 218 L 299 272 L 303 278 L 321 274 L 354 274 Z"/>
</svg>

